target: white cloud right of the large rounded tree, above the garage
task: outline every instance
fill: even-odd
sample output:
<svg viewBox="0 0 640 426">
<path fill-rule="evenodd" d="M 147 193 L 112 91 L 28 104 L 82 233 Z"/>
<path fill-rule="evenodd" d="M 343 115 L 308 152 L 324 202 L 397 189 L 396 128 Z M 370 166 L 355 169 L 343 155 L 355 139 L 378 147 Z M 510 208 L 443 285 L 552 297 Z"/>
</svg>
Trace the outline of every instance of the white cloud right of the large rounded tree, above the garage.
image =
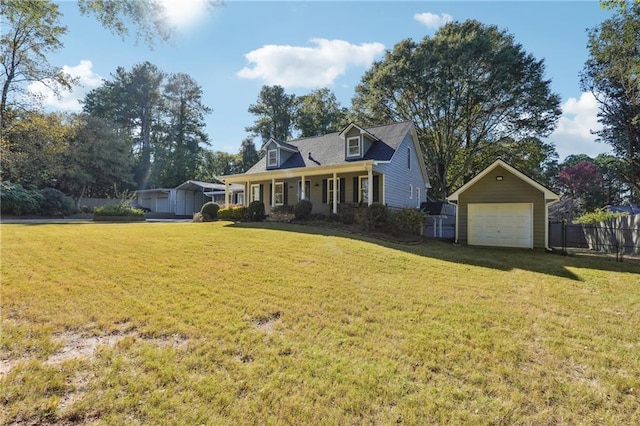
<svg viewBox="0 0 640 426">
<path fill-rule="evenodd" d="M 591 133 L 602 128 L 597 114 L 598 103 L 592 93 L 582 93 L 579 99 L 569 98 L 562 104 L 558 127 L 549 136 L 556 145 L 560 161 L 572 154 L 596 157 L 611 150 L 609 145 L 596 142 L 596 136 Z"/>
</svg>

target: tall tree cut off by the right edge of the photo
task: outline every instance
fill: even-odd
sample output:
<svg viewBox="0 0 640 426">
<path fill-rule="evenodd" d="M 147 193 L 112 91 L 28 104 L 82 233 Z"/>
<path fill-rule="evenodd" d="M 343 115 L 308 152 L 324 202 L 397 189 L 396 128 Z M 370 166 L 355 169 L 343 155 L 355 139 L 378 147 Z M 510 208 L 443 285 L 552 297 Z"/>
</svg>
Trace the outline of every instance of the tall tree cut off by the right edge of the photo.
<svg viewBox="0 0 640 426">
<path fill-rule="evenodd" d="M 608 1 L 616 14 L 589 31 L 580 83 L 595 96 L 602 130 L 594 132 L 624 161 L 626 183 L 640 199 L 640 3 Z"/>
</svg>

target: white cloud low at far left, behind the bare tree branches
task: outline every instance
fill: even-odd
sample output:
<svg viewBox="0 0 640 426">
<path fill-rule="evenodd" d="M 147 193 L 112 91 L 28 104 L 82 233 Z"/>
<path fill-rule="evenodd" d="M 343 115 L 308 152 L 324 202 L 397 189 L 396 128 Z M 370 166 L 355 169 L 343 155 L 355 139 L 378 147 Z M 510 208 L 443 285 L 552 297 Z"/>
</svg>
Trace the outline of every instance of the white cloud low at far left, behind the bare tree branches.
<svg viewBox="0 0 640 426">
<path fill-rule="evenodd" d="M 76 66 L 65 65 L 62 67 L 62 71 L 77 78 L 78 84 L 73 86 L 71 90 L 60 88 L 60 96 L 56 96 L 51 88 L 55 85 L 53 82 L 48 82 L 47 85 L 42 82 L 31 83 L 27 90 L 40 99 L 46 107 L 79 112 L 82 109 L 79 101 L 84 99 L 91 90 L 101 86 L 103 78 L 93 72 L 93 64 L 86 59 L 81 60 Z"/>
</svg>

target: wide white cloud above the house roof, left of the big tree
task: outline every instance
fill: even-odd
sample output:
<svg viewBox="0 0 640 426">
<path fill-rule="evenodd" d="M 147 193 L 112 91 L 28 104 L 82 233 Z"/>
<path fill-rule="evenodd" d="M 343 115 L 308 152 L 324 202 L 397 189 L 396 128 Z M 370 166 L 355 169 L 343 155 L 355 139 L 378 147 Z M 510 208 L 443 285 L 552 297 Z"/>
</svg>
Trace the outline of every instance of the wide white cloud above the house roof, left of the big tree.
<svg viewBox="0 0 640 426">
<path fill-rule="evenodd" d="M 285 88 L 313 89 L 333 84 L 350 67 L 368 67 L 384 52 L 381 43 L 355 45 L 322 38 L 311 43 L 313 47 L 267 45 L 253 50 L 245 55 L 250 66 L 237 76 Z"/>
</svg>

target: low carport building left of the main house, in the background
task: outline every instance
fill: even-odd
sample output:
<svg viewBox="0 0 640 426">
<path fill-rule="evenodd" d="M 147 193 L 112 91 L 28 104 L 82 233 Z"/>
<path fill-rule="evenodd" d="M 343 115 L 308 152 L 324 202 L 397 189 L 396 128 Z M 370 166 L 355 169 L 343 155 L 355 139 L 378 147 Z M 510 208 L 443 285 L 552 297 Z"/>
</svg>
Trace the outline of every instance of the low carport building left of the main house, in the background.
<svg viewBox="0 0 640 426">
<path fill-rule="evenodd" d="M 244 187 L 229 188 L 233 203 L 244 203 Z M 191 217 L 199 212 L 204 203 L 213 201 L 222 204 L 225 200 L 225 185 L 221 183 L 188 180 L 175 188 L 141 189 L 136 191 L 136 202 L 152 213 L 164 216 Z"/>
</svg>

